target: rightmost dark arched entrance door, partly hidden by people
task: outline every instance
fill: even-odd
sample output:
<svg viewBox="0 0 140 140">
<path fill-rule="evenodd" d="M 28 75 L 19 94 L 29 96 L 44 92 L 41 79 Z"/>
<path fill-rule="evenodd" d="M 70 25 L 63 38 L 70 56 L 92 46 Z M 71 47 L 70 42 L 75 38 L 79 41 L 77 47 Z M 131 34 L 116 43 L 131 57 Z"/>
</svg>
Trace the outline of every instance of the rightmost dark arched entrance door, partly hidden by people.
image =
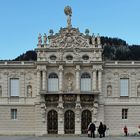
<svg viewBox="0 0 140 140">
<path fill-rule="evenodd" d="M 81 116 L 81 131 L 82 134 L 87 133 L 87 127 L 91 122 L 91 112 L 89 110 L 84 110 Z"/>
</svg>

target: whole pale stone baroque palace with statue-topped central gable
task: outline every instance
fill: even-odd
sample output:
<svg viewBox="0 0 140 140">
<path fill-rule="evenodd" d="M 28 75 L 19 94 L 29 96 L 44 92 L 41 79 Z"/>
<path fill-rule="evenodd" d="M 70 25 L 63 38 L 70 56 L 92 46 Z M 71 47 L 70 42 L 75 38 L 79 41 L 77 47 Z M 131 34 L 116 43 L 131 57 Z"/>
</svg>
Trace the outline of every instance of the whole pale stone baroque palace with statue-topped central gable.
<svg viewBox="0 0 140 140">
<path fill-rule="evenodd" d="M 0 134 L 109 133 L 140 125 L 140 62 L 104 61 L 100 36 L 71 24 L 39 34 L 37 61 L 0 62 Z M 43 40 L 43 41 L 42 41 Z"/>
</svg>

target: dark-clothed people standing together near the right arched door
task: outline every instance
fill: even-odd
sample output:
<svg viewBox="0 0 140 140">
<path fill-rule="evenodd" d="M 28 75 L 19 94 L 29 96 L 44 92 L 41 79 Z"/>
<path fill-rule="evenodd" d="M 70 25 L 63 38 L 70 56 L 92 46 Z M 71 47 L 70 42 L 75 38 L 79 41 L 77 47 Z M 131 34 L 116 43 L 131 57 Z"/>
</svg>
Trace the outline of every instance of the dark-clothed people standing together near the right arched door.
<svg viewBox="0 0 140 140">
<path fill-rule="evenodd" d="M 88 130 L 87 130 L 88 137 L 95 138 L 95 130 L 96 130 L 96 126 L 93 122 L 91 122 L 88 125 Z M 105 137 L 105 132 L 106 132 L 106 125 L 100 122 L 100 125 L 98 127 L 98 133 L 99 133 L 100 138 Z"/>
</svg>

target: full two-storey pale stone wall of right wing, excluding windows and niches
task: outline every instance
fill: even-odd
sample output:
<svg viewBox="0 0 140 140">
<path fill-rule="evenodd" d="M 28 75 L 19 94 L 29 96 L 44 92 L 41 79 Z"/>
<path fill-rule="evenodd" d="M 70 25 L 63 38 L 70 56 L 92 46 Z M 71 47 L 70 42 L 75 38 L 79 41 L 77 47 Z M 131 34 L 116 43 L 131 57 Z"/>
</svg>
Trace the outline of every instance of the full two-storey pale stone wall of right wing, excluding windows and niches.
<svg viewBox="0 0 140 140">
<path fill-rule="evenodd" d="M 104 68 L 103 72 L 104 120 L 110 135 L 123 135 L 122 128 L 125 125 L 131 134 L 132 128 L 137 130 L 140 125 L 140 97 L 137 95 L 139 66 L 134 68 L 127 63 L 121 66 L 114 64 Z M 128 97 L 120 97 L 120 78 L 129 78 Z M 112 86 L 111 95 L 107 93 L 107 85 Z M 122 119 L 122 108 L 128 109 L 128 119 Z"/>
</svg>

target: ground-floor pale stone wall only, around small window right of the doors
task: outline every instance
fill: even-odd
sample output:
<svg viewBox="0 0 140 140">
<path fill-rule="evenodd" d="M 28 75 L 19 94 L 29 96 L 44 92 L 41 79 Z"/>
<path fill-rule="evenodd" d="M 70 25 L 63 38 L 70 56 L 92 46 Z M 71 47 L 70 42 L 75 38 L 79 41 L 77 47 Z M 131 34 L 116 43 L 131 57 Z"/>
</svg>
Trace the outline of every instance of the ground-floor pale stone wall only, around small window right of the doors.
<svg viewBox="0 0 140 140">
<path fill-rule="evenodd" d="M 119 103 L 118 103 L 119 104 Z M 122 128 L 137 129 L 140 125 L 140 105 L 106 105 L 105 124 L 110 135 L 123 135 Z M 122 108 L 128 108 L 128 119 L 122 119 Z M 131 130 L 128 132 L 131 133 Z"/>
</svg>

